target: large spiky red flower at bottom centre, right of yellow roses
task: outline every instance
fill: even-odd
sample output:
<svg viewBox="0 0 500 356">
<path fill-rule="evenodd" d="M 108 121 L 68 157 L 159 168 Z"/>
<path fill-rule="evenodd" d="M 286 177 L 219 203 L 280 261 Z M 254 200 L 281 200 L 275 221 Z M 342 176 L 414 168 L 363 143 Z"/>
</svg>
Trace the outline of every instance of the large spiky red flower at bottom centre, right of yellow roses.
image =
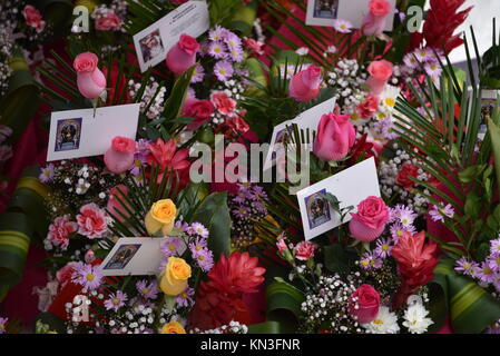
<svg viewBox="0 0 500 356">
<path fill-rule="evenodd" d="M 209 280 L 199 285 L 196 305 L 189 315 L 190 326 L 210 329 L 232 320 L 252 324 L 243 294 L 258 291 L 265 271 L 258 266 L 258 258 L 248 253 L 235 251 L 228 258 L 222 255 L 208 273 Z"/>
</svg>

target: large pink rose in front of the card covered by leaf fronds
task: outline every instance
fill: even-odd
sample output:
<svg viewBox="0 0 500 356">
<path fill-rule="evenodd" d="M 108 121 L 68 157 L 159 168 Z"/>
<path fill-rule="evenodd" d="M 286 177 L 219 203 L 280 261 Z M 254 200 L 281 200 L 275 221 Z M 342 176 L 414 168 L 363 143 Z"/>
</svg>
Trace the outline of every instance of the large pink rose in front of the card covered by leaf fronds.
<svg viewBox="0 0 500 356">
<path fill-rule="evenodd" d="M 349 115 L 323 115 L 317 126 L 313 151 L 324 160 L 341 160 L 354 145 L 356 132 Z"/>
</svg>

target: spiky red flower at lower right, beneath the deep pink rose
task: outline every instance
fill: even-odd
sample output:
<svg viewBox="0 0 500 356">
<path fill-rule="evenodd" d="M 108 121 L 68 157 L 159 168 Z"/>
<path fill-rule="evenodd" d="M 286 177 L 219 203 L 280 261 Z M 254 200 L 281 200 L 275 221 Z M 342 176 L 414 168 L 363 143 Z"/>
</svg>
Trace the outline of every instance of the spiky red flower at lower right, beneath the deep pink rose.
<svg viewBox="0 0 500 356">
<path fill-rule="evenodd" d="M 433 270 L 438 264 L 434 257 L 438 245 L 425 243 L 425 233 L 404 235 L 392 248 L 392 257 L 398 263 L 402 285 L 393 300 L 393 308 L 399 308 L 406 298 L 419 287 L 428 284 L 433 277 Z"/>
</svg>

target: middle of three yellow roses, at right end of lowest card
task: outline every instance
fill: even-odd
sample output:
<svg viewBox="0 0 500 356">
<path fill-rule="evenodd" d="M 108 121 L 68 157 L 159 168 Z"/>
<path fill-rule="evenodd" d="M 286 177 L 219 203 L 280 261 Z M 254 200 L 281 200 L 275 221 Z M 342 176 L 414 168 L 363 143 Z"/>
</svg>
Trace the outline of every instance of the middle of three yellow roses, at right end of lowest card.
<svg viewBox="0 0 500 356">
<path fill-rule="evenodd" d="M 168 257 L 167 266 L 159 275 L 159 288 L 168 296 L 176 297 L 187 288 L 190 266 L 182 258 Z"/>
</svg>

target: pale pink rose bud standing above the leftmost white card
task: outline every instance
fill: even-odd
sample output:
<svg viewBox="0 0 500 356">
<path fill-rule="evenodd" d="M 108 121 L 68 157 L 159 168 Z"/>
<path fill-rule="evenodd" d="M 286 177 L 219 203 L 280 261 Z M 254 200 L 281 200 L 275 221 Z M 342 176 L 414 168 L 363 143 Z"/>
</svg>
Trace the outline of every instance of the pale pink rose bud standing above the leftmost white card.
<svg viewBox="0 0 500 356">
<path fill-rule="evenodd" d="M 97 68 L 95 53 L 84 52 L 75 58 L 72 67 L 77 71 L 77 85 L 80 93 L 88 99 L 99 98 L 106 89 L 106 77 Z"/>
</svg>

